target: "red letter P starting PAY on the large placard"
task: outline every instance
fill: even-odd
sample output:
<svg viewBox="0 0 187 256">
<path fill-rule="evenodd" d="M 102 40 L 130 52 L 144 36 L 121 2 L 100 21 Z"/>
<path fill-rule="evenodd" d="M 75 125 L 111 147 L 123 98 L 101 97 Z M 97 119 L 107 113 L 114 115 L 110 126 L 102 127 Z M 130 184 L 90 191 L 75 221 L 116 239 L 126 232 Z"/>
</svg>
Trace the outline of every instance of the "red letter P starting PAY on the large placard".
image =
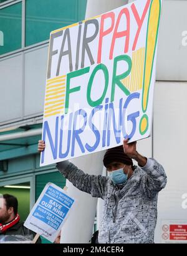
<svg viewBox="0 0 187 256">
<path fill-rule="evenodd" d="M 107 18 L 110 18 L 112 22 L 111 22 L 110 28 L 104 31 L 104 21 Z M 99 42 L 98 42 L 97 63 L 101 62 L 103 36 L 106 36 L 107 34 L 111 33 L 111 31 L 113 30 L 114 21 L 115 21 L 115 14 L 113 12 L 105 13 L 102 15 L 102 18 L 100 21 L 100 36 L 99 36 Z"/>
</svg>

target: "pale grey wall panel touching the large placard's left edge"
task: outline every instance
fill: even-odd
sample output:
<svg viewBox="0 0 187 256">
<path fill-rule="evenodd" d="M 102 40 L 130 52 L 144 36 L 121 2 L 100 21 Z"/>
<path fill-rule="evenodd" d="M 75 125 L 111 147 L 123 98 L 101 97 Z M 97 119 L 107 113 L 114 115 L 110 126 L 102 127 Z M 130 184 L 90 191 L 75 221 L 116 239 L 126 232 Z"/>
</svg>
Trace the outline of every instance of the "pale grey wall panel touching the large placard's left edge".
<svg viewBox="0 0 187 256">
<path fill-rule="evenodd" d="M 24 116 L 44 111 L 48 46 L 25 54 Z"/>
</svg>

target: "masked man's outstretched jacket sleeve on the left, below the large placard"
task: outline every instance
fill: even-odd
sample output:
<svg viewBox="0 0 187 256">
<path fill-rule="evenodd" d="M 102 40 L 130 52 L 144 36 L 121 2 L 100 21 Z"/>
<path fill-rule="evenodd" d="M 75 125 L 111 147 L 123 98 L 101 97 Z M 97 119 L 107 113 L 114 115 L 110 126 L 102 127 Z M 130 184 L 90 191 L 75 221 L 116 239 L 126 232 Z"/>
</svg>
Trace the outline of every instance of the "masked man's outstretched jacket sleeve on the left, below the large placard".
<svg viewBox="0 0 187 256">
<path fill-rule="evenodd" d="M 85 174 L 69 161 L 57 163 L 57 169 L 79 190 L 91 194 L 92 197 L 104 197 L 107 191 L 107 177 Z"/>
</svg>

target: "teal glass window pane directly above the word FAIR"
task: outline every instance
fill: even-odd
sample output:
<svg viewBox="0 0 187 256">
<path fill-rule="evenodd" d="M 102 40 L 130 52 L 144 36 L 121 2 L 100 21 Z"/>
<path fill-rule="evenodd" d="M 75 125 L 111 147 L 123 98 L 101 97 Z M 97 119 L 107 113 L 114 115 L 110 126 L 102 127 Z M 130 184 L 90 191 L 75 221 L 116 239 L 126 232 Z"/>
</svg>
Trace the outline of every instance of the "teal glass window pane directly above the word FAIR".
<svg viewBox="0 0 187 256">
<path fill-rule="evenodd" d="M 49 39 L 50 31 L 85 18 L 87 0 L 26 0 L 26 46 Z"/>
</svg>

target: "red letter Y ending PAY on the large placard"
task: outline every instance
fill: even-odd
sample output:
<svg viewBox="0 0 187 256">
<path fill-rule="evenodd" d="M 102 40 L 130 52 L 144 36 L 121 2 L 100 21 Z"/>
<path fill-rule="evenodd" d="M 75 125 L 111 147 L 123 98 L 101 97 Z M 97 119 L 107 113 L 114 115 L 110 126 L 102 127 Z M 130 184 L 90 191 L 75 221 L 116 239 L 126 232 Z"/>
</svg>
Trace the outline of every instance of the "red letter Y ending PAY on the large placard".
<svg viewBox="0 0 187 256">
<path fill-rule="evenodd" d="M 141 16 L 141 19 L 140 19 L 140 16 L 139 16 L 138 12 L 137 12 L 137 8 L 136 8 L 135 4 L 132 4 L 132 6 L 131 6 L 132 12 L 133 12 L 133 14 L 135 16 L 135 19 L 137 21 L 137 24 L 138 24 L 138 30 L 137 30 L 137 34 L 135 36 L 135 41 L 133 43 L 133 48 L 132 48 L 133 51 L 135 50 L 135 48 L 137 46 L 138 36 L 140 34 L 141 26 L 143 24 L 143 21 L 145 19 L 146 12 L 147 12 L 149 6 L 150 6 L 150 0 L 148 0 L 146 2 L 145 9 L 143 10 L 143 14 Z"/>
</svg>

